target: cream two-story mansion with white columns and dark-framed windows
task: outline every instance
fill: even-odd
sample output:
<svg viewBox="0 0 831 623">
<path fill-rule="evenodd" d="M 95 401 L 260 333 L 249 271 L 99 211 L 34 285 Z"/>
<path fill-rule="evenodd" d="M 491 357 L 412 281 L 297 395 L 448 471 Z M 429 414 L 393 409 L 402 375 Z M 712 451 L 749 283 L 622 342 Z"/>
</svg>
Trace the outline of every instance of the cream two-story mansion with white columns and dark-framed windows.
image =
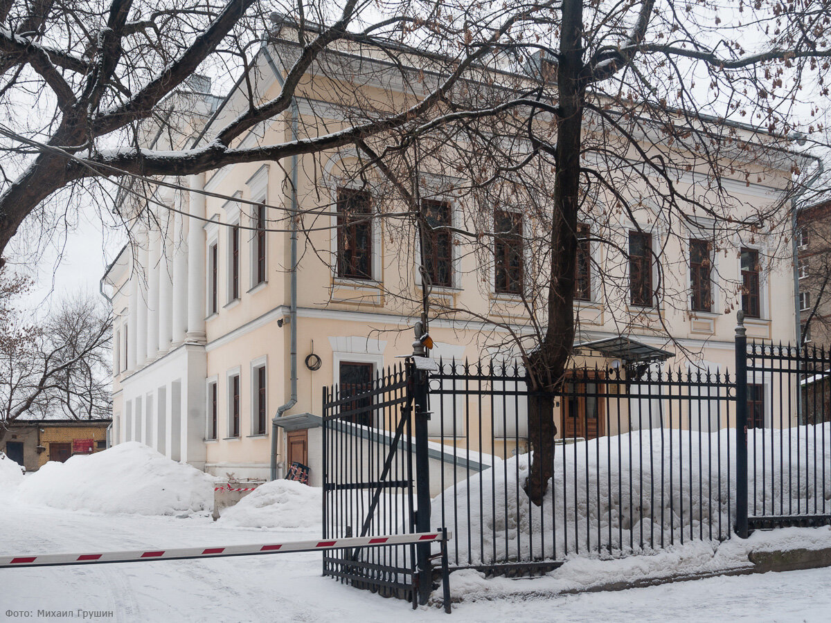
<svg viewBox="0 0 831 623">
<path fill-rule="evenodd" d="M 292 37 L 263 46 L 255 83 L 263 98 L 278 93 L 293 54 Z M 353 76 L 361 85 L 355 89 L 394 88 L 373 82 L 383 79 L 373 66 L 381 60 L 362 62 L 370 77 Z M 185 138 L 234 115 L 244 105 L 243 88 L 221 100 L 183 96 L 192 112 Z M 325 92 L 321 87 L 316 100 L 297 98 L 243 144 L 288 141 L 322 125 Z M 169 149 L 161 135 L 149 144 Z M 747 166 L 757 157 L 750 154 Z M 425 170 L 425 211 L 437 228 L 416 249 L 400 224 L 377 217 L 373 206 L 381 198 L 366 175 L 356 179 L 357 158 L 353 150 L 337 150 L 236 164 L 170 179 L 187 189 L 160 187 L 153 201 L 130 208 L 131 243 L 103 277 L 116 314 L 116 443 L 138 440 L 171 459 L 238 478 L 268 478 L 274 453 L 278 475 L 300 461 L 312 466 L 317 483 L 322 386 L 359 385 L 411 352 L 422 274 L 430 277 L 437 305 L 468 311 L 431 321 L 433 356 L 475 360 L 507 341 L 509 331 L 528 330 L 523 297 L 538 273 L 527 246 L 533 219 L 510 204 L 494 205 L 487 218 L 507 233 L 471 253 L 452 228 L 467 218 L 453 190 L 457 179 Z M 789 166 L 721 179 L 736 217 L 776 202 Z M 680 170 L 677 185 L 704 188 L 706 179 L 706 172 Z M 647 201 L 637 208 L 635 226 L 612 204 L 601 197 L 580 225 L 581 356 L 602 366 L 670 358 L 671 365 L 732 369 L 740 308 L 749 336 L 794 339 L 792 265 L 770 253 L 771 240 L 788 238 L 787 231 L 725 239 L 706 218 L 669 223 Z M 600 238 L 615 244 L 593 242 Z M 417 270 L 422 250 L 425 273 Z M 273 426 L 273 419 L 283 425 Z"/>
</svg>

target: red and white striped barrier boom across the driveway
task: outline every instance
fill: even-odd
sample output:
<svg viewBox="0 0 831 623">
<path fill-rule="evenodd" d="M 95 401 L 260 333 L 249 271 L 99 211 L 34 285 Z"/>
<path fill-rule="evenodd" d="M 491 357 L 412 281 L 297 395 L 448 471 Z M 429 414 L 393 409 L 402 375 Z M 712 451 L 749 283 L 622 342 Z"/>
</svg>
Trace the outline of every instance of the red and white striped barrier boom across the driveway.
<svg viewBox="0 0 831 623">
<path fill-rule="evenodd" d="M 450 532 L 448 532 L 448 535 L 450 535 Z M 450 536 L 447 538 L 450 538 Z M 318 552 L 329 549 L 342 549 L 344 547 L 381 547 L 386 545 L 407 545 L 410 543 L 441 542 L 444 540 L 443 532 L 416 532 L 414 534 L 389 534 L 380 537 L 348 537 L 327 541 L 289 541 L 283 543 L 266 543 L 264 545 L 179 547 L 176 549 L 90 552 L 84 554 L 0 555 L 0 568 L 90 565 L 104 562 L 150 562 L 158 560 L 184 560 L 188 558 L 221 558 L 283 552 Z"/>
</svg>

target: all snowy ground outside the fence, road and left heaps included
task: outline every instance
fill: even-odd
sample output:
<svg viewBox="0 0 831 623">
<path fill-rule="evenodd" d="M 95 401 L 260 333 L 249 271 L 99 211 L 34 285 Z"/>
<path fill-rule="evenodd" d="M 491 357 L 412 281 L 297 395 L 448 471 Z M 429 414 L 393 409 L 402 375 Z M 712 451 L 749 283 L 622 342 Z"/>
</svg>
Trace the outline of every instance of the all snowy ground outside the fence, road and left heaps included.
<svg viewBox="0 0 831 623">
<path fill-rule="evenodd" d="M 0 554 L 101 552 L 171 547 L 210 547 L 321 536 L 320 493 L 296 483 L 271 483 L 212 522 L 206 510 L 193 510 L 193 492 L 204 481 L 184 466 L 160 461 L 138 446 L 120 450 L 130 478 L 114 470 L 109 482 L 91 457 L 70 459 L 23 483 L 0 473 Z M 111 460 L 101 453 L 97 461 Z M 74 462 L 74 463 L 73 463 Z M 76 473 L 74 487 L 64 478 Z M 130 509 L 131 495 L 151 495 L 145 480 L 168 500 Z M 142 474 L 144 474 L 142 476 Z M 120 478 L 120 481 L 118 480 Z M 14 482 L 12 482 L 14 481 Z M 61 491 L 58 483 L 67 490 Z M 91 488 L 99 492 L 96 496 Z M 118 512 L 107 491 L 121 500 Z M 40 493 L 37 493 L 40 492 Z M 91 504 L 73 510 L 72 493 Z M 47 505 L 53 498 L 61 503 Z M 144 498 L 143 498 L 144 499 Z M 179 500 L 190 511 L 161 514 Z M 145 500 L 146 502 L 146 500 Z M 153 514 L 140 514 L 155 508 Z M 266 526 L 266 527 L 255 527 Z M 645 576 L 694 574 L 746 565 L 750 549 L 828 547 L 829 528 L 789 528 L 757 533 L 748 541 L 693 542 L 656 556 L 613 561 L 570 559 L 537 579 L 486 580 L 475 571 L 451 576 L 456 601 L 452 618 L 439 607 L 411 610 L 406 602 L 384 599 L 321 576 L 318 553 L 274 554 L 213 560 L 138 562 L 86 567 L 0 569 L 0 621 L 50 620 L 38 611 L 112 611 L 107 621 L 827 621 L 831 611 L 831 570 L 791 571 L 718 577 L 618 592 L 583 592 L 610 581 Z M 436 596 L 438 597 L 438 596 Z M 17 612 L 17 615 L 15 614 Z M 9 614 L 11 613 L 11 614 Z M 78 617 L 80 618 L 80 617 Z"/>
</svg>

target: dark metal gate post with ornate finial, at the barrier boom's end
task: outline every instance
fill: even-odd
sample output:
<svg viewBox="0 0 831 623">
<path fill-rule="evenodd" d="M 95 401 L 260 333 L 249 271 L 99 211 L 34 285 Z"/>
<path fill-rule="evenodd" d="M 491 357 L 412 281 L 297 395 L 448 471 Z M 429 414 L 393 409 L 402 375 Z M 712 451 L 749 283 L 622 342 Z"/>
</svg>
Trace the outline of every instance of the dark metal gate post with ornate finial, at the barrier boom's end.
<svg viewBox="0 0 831 623">
<path fill-rule="evenodd" d="M 416 341 L 413 342 L 413 356 L 425 357 L 427 353 L 420 341 L 423 329 L 416 323 Z M 416 436 L 416 532 L 430 532 L 430 454 L 427 448 L 427 420 L 430 410 L 427 406 L 429 375 L 427 370 L 420 370 L 412 358 L 407 361 L 413 388 L 413 413 L 415 415 Z M 418 598 L 424 605 L 430 599 L 433 585 L 433 567 L 430 563 L 430 543 L 416 545 L 418 563 Z"/>
</svg>

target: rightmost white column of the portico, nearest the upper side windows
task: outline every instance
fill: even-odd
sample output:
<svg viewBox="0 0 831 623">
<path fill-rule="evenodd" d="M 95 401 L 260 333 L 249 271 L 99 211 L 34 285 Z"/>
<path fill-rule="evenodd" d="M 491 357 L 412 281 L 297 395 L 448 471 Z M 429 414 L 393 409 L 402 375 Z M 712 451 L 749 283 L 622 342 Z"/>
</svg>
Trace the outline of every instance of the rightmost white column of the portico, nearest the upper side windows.
<svg viewBox="0 0 831 623">
<path fill-rule="evenodd" d="M 190 176 L 190 218 L 188 225 L 188 341 L 204 344 L 205 341 L 205 198 L 199 191 L 204 188 L 204 173 Z"/>
</svg>

